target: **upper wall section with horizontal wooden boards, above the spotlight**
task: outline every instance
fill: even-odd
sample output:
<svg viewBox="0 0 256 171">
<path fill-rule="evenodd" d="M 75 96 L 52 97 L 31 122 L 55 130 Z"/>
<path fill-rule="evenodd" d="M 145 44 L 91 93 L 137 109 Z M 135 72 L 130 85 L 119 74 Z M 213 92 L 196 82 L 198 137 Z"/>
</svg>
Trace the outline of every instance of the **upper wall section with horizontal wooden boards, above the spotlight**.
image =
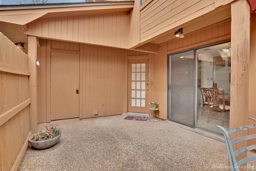
<svg viewBox="0 0 256 171">
<path fill-rule="evenodd" d="M 214 0 L 153 0 L 140 11 L 140 42 L 214 9 Z"/>
</svg>

